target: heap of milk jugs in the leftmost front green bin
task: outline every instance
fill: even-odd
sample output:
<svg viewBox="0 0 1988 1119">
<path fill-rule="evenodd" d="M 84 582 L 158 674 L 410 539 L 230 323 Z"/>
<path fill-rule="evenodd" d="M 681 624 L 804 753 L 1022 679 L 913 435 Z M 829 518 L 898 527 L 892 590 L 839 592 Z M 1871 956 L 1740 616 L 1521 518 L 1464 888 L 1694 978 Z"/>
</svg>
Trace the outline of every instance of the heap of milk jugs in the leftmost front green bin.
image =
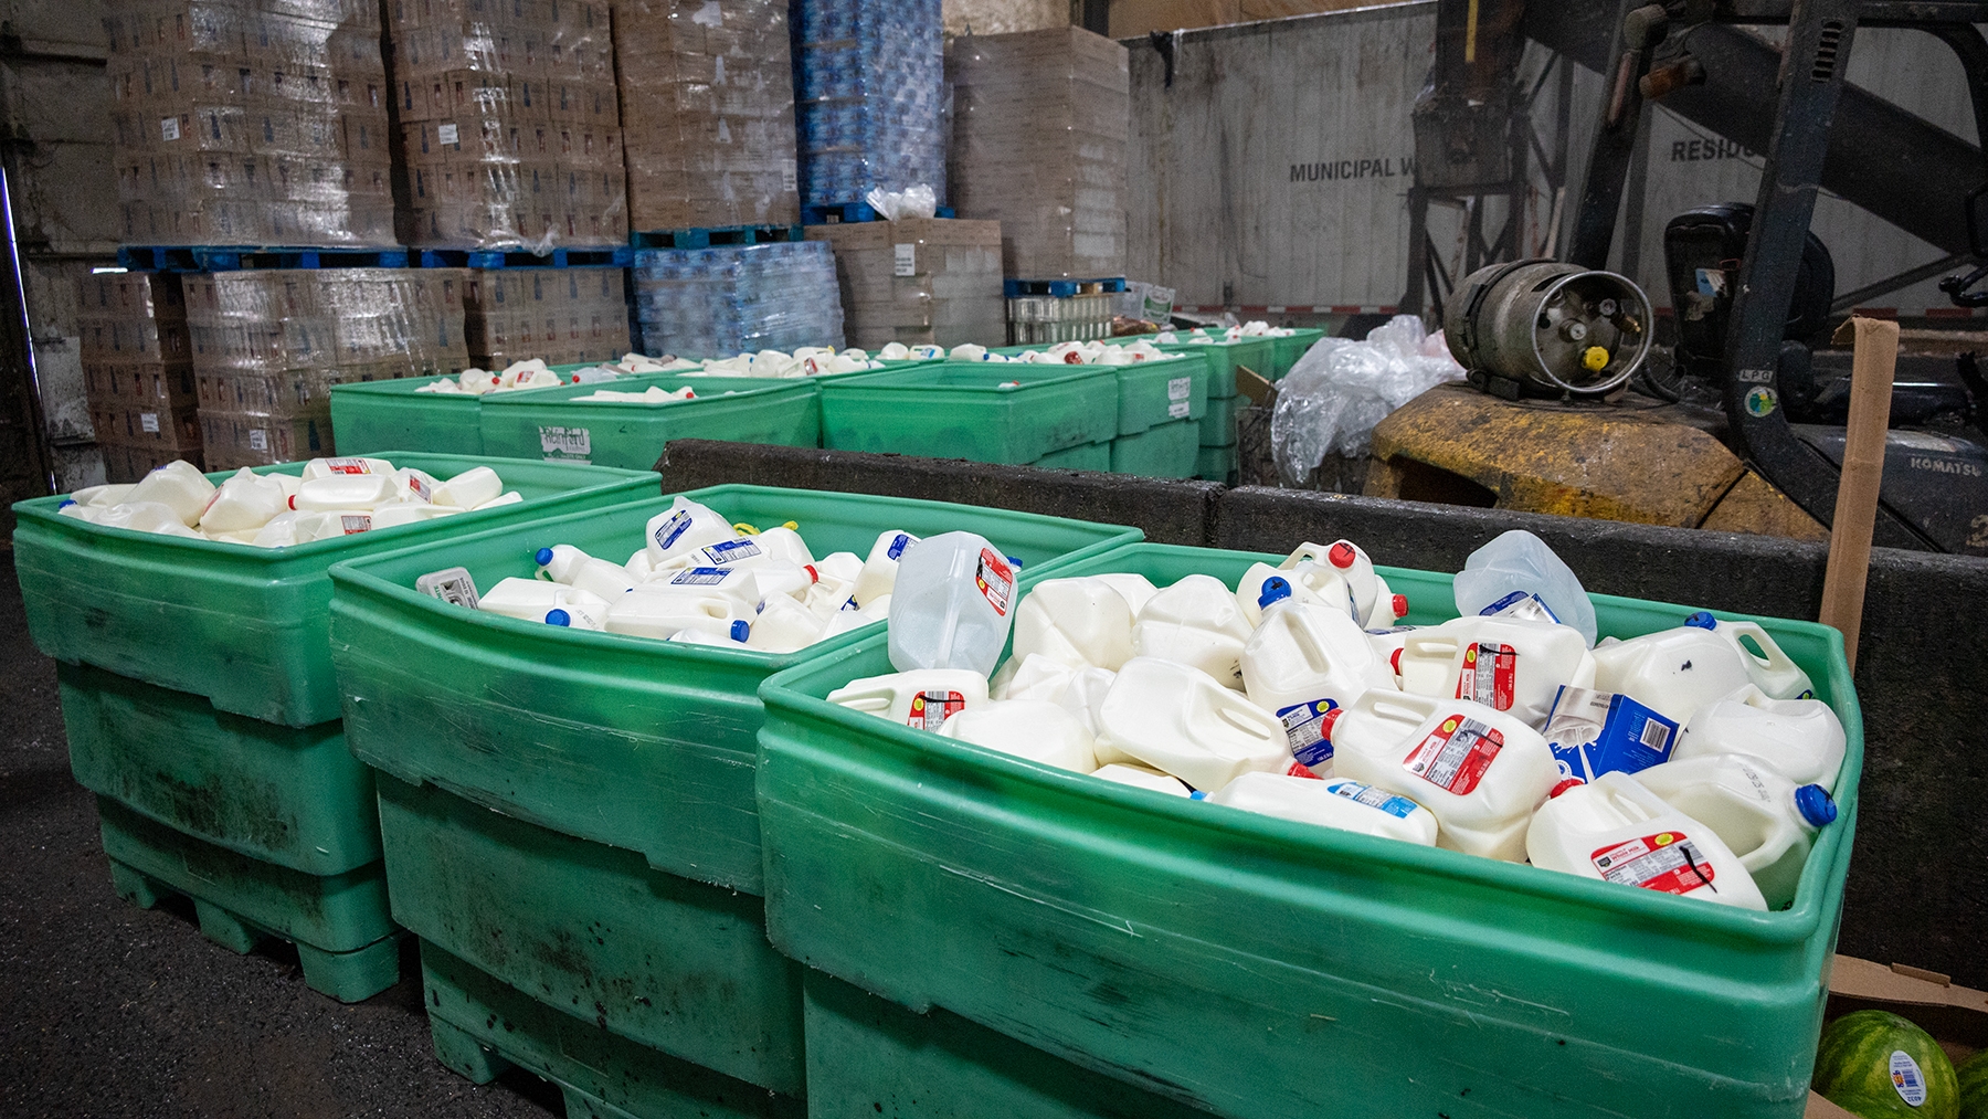
<svg viewBox="0 0 1988 1119">
<path fill-rule="evenodd" d="M 491 467 L 437 479 L 386 459 L 310 459 L 300 475 L 239 469 L 215 485 L 179 459 L 135 485 L 93 485 L 58 509 L 107 529 L 286 549 L 525 501 Z"/>
</svg>

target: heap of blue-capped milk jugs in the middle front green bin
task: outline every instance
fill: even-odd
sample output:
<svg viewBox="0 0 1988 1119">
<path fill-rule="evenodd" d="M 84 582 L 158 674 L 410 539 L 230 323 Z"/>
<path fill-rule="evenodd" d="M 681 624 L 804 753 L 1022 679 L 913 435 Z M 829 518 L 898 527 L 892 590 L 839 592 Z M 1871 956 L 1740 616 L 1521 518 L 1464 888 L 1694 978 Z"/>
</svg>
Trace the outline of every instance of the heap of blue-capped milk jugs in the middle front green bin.
<svg viewBox="0 0 1988 1119">
<path fill-rule="evenodd" d="M 732 525 L 678 497 L 628 562 L 549 543 L 533 578 L 505 578 L 477 610 L 682 644 L 787 654 L 891 612 L 899 559 L 918 537 L 885 531 L 869 557 L 809 551 L 795 525 Z"/>
</svg>

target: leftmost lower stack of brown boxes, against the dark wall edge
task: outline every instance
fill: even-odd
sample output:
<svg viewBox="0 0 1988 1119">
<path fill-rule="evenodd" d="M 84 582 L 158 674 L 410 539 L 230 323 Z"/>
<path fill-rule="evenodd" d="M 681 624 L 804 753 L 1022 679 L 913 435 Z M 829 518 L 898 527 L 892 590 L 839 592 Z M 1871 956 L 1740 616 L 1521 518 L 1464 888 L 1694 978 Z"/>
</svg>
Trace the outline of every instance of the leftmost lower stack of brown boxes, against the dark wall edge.
<svg viewBox="0 0 1988 1119">
<path fill-rule="evenodd" d="M 187 302 L 175 272 L 83 276 L 78 292 L 83 396 L 109 481 L 201 465 Z"/>
</svg>

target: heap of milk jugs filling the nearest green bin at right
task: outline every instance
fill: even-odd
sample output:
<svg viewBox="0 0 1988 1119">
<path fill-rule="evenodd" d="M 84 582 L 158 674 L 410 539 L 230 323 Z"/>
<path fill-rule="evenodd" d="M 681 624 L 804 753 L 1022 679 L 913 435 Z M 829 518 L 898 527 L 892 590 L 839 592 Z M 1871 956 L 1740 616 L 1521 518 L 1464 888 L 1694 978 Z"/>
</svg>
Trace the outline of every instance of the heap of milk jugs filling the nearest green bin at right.
<svg viewBox="0 0 1988 1119">
<path fill-rule="evenodd" d="M 990 574 L 994 570 L 996 574 Z M 1237 586 L 1048 578 L 964 533 L 901 559 L 891 676 L 829 702 L 1177 797 L 1745 908 L 1783 908 L 1835 819 L 1835 712 L 1751 622 L 1594 642 L 1531 533 L 1408 602 L 1350 541 Z M 1012 628 L 1012 654 L 994 672 Z M 992 676 L 990 676 L 992 674 Z"/>
</svg>

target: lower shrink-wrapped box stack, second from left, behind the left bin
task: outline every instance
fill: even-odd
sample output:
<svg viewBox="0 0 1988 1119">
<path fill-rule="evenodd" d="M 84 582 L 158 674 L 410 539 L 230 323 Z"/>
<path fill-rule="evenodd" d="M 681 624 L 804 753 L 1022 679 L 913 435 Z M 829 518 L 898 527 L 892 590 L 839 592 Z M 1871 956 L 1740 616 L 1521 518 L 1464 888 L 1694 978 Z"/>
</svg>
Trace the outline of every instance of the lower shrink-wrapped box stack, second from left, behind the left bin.
<svg viewBox="0 0 1988 1119">
<path fill-rule="evenodd" d="M 245 270 L 187 276 L 211 469 L 332 453 L 332 386 L 469 368 L 465 268 Z"/>
</svg>

